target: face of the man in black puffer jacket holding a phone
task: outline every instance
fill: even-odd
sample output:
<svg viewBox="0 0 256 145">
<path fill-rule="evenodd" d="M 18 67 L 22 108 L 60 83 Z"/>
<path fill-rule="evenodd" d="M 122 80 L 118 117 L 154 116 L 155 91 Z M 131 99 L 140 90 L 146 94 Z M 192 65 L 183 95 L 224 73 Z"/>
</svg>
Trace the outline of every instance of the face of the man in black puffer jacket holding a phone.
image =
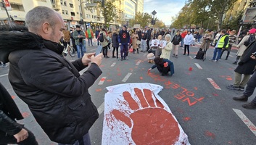
<svg viewBox="0 0 256 145">
<path fill-rule="evenodd" d="M 51 26 L 51 36 L 49 37 L 51 41 L 59 43 L 60 38 L 62 38 L 62 30 L 65 30 L 65 23 L 61 17 L 57 17 L 55 26 Z"/>
</svg>

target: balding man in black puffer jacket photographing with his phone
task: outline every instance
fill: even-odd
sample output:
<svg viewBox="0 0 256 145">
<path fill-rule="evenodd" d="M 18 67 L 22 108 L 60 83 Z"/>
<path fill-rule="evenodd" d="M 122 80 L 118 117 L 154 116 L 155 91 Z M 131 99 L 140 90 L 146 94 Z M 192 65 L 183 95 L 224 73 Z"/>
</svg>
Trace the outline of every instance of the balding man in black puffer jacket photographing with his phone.
<svg viewBox="0 0 256 145">
<path fill-rule="evenodd" d="M 88 130 L 99 113 L 88 88 L 102 74 L 102 54 L 84 54 L 74 62 L 62 57 L 59 39 L 65 23 L 54 9 L 35 7 L 26 14 L 25 23 L 28 32 L 0 32 L 0 59 L 10 62 L 13 90 L 51 141 L 90 144 Z"/>
</svg>

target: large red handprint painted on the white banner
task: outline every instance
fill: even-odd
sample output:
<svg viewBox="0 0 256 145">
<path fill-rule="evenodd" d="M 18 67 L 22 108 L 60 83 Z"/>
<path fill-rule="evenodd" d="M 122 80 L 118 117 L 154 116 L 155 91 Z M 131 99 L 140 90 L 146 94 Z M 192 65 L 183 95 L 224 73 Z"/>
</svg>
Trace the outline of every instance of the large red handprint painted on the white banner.
<svg viewBox="0 0 256 145">
<path fill-rule="evenodd" d="M 125 112 L 113 109 L 111 114 L 132 128 L 131 137 L 135 144 L 175 144 L 180 129 L 173 115 L 164 109 L 149 89 L 143 89 L 143 92 L 139 88 L 133 90 L 140 104 L 128 91 L 123 92 L 123 97 L 134 112 L 128 117 Z"/>
</svg>

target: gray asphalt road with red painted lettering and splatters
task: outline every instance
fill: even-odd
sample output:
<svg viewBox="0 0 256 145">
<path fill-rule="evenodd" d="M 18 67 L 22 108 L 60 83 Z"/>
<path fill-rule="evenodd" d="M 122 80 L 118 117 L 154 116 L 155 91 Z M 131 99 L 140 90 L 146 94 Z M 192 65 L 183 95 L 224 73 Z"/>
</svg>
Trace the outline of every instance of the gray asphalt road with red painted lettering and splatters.
<svg viewBox="0 0 256 145">
<path fill-rule="evenodd" d="M 99 119 L 90 130 L 91 143 L 93 145 L 102 143 L 104 94 L 107 93 L 107 86 L 120 83 L 154 83 L 164 87 L 159 95 L 176 116 L 178 123 L 189 136 L 191 144 L 256 144 L 255 110 L 244 109 L 241 107 L 243 102 L 232 99 L 234 96 L 241 96 L 242 91 L 231 91 L 226 88 L 234 83 L 236 65 L 232 62 L 236 58 L 235 51 L 231 51 L 228 60 L 220 59 L 218 62 L 212 62 L 208 59 L 212 57 L 213 49 L 209 49 L 207 59 L 203 62 L 192 58 L 198 49 L 198 45 L 191 46 L 188 57 L 182 55 L 183 49 L 180 48 L 178 58 L 170 57 L 175 67 L 175 74 L 171 77 L 170 75 L 162 77 L 157 69 L 147 74 L 152 64 L 147 62 L 146 53 L 129 54 L 128 60 L 120 61 L 111 58 L 112 53 L 109 51 L 110 58 L 103 58 L 100 66 L 103 71 L 102 75 L 89 89 L 92 100 L 100 113 Z M 87 52 L 95 50 L 96 46 L 87 48 Z M 223 58 L 225 57 L 226 52 L 223 54 Z M 67 59 L 72 61 L 75 58 L 67 57 Z M 21 123 L 25 123 L 25 126 L 33 131 L 39 144 L 55 144 L 36 123 L 27 105 L 12 90 L 8 80 L 8 71 L 9 67 L 0 68 L 0 81 L 14 96 L 15 102 L 25 117 Z M 128 73 L 131 73 L 131 76 L 124 80 Z M 103 77 L 106 78 L 102 79 Z M 100 80 L 104 82 L 99 84 Z M 249 101 L 252 101 L 255 96 L 256 92 L 249 98 Z"/>
</svg>

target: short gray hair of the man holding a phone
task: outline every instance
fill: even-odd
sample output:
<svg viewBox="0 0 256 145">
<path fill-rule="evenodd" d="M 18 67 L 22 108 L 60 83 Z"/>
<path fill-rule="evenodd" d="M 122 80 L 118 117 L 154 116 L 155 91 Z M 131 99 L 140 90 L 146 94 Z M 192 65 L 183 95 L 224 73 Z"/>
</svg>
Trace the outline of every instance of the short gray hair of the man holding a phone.
<svg viewBox="0 0 256 145">
<path fill-rule="evenodd" d="M 31 9 L 25 17 L 25 23 L 28 30 L 37 32 L 38 28 L 41 27 L 44 22 L 49 22 L 49 25 L 54 28 L 56 24 L 55 12 L 54 9 L 44 6 L 38 6 Z"/>
</svg>

